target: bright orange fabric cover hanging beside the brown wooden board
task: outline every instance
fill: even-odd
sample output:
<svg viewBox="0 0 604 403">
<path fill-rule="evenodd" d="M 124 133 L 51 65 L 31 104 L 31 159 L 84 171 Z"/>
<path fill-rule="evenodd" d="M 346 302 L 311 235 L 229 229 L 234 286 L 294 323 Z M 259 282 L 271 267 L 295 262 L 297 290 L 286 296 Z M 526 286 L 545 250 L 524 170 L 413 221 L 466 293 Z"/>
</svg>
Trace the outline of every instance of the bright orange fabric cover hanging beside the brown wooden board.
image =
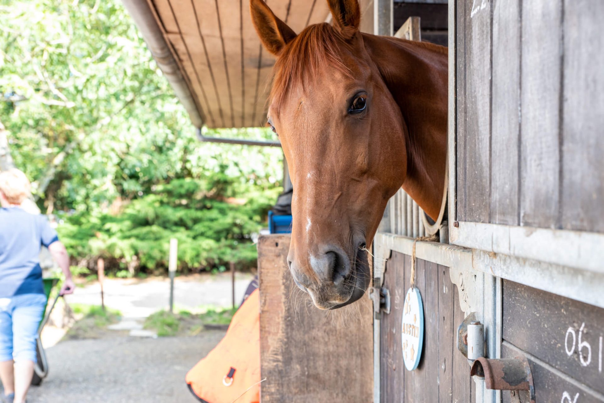
<svg viewBox="0 0 604 403">
<path fill-rule="evenodd" d="M 247 388 L 260 382 L 260 301 L 256 289 L 235 312 L 225 337 L 185 377 L 193 392 L 208 403 L 233 403 Z M 233 383 L 222 382 L 233 367 Z M 228 379 L 227 379 L 228 383 Z M 237 403 L 259 403 L 260 384 Z"/>
</svg>

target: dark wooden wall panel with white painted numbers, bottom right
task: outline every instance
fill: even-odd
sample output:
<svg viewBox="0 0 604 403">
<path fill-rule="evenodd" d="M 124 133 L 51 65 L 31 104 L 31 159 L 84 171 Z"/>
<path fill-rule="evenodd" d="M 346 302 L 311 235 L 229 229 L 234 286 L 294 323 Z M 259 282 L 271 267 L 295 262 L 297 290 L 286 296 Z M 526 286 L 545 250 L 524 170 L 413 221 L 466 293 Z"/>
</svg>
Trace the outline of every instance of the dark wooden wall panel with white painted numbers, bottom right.
<svg viewBox="0 0 604 403">
<path fill-rule="evenodd" d="M 603 338 L 604 309 L 504 280 L 502 355 L 527 356 L 537 403 L 604 402 Z"/>
</svg>

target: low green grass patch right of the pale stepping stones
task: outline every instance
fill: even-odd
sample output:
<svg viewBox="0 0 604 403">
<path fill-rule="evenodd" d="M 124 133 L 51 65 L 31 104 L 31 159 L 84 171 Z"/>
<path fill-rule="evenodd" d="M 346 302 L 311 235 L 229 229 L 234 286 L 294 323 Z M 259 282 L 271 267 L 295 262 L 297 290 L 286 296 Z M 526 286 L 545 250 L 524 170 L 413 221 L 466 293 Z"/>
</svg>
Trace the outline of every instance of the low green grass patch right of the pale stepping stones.
<svg viewBox="0 0 604 403">
<path fill-rule="evenodd" d="M 155 330 L 159 337 L 196 335 L 204 329 L 205 324 L 229 324 L 236 309 L 205 307 L 201 314 L 179 311 L 171 314 L 158 311 L 149 315 L 144 323 L 145 329 Z"/>
</svg>

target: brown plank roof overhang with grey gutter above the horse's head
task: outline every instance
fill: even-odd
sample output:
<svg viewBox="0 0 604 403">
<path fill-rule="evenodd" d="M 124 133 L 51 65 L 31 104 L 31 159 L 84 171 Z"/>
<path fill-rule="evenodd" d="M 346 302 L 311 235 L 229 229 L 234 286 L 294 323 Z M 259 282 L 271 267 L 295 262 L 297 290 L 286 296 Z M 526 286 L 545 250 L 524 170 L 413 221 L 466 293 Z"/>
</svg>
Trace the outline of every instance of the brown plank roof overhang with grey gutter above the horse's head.
<svg viewBox="0 0 604 403">
<path fill-rule="evenodd" d="M 265 126 L 275 58 L 249 0 L 123 0 L 196 127 Z M 268 0 L 295 32 L 326 21 L 324 0 Z"/>
</svg>

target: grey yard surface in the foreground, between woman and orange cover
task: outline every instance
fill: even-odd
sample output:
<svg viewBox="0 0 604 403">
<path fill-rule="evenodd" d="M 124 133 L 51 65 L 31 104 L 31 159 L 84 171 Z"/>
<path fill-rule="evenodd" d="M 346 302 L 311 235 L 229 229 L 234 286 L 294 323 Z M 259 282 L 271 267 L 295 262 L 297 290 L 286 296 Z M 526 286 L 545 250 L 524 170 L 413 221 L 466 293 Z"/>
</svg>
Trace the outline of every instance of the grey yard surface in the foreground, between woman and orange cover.
<svg viewBox="0 0 604 403">
<path fill-rule="evenodd" d="M 48 377 L 29 403 L 197 402 L 185 374 L 223 337 L 106 338 L 63 341 L 47 349 Z"/>
</svg>

